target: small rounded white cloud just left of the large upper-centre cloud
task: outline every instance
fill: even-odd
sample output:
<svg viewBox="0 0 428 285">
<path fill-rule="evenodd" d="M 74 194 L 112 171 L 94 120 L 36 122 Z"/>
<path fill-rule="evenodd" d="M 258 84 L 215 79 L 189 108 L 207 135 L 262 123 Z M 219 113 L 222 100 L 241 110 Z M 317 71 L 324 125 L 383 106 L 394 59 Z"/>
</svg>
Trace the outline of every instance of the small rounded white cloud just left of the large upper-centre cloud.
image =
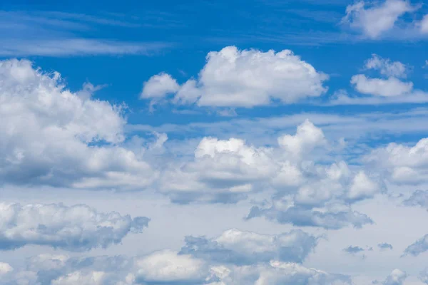
<svg viewBox="0 0 428 285">
<path fill-rule="evenodd" d="M 144 83 L 141 98 L 163 98 L 170 93 L 176 93 L 179 88 L 177 81 L 169 74 L 159 73 Z"/>
</svg>

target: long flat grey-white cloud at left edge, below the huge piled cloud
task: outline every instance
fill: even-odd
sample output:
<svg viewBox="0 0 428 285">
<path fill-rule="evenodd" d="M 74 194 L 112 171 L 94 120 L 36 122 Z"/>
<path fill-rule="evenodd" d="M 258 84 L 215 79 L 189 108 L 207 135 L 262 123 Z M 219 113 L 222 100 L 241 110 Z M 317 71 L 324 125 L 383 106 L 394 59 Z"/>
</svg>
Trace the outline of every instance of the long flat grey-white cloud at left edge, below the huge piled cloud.
<svg viewBox="0 0 428 285">
<path fill-rule="evenodd" d="M 99 213 L 86 205 L 0 203 L 0 249 L 41 245 L 85 251 L 118 244 L 129 232 L 141 232 L 147 217 Z"/>
</svg>

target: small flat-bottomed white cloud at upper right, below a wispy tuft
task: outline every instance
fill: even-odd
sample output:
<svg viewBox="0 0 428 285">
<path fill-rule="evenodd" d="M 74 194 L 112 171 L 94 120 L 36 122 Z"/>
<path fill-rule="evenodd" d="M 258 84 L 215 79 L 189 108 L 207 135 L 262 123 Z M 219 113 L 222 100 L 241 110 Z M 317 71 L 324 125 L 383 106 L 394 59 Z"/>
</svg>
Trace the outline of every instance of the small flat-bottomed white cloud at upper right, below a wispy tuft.
<svg viewBox="0 0 428 285">
<path fill-rule="evenodd" d="M 413 89 L 412 82 L 403 82 L 397 78 L 367 78 L 365 75 L 358 74 L 352 76 L 351 84 L 355 89 L 363 94 L 392 97 L 411 93 Z"/>
</svg>

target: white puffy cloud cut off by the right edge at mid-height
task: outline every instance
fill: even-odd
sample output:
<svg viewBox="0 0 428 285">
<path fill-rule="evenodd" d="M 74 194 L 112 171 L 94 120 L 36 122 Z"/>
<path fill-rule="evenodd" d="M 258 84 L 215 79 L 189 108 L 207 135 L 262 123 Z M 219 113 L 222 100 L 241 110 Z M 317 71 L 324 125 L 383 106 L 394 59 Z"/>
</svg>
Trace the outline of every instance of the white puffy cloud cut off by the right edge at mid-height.
<svg viewBox="0 0 428 285">
<path fill-rule="evenodd" d="M 390 143 L 373 150 L 364 160 L 374 167 L 381 167 L 392 182 L 417 185 L 426 181 L 428 175 L 428 138 L 419 140 L 414 146 Z M 420 200 L 423 195 L 418 193 L 417 196 L 408 203 Z"/>
</svg>

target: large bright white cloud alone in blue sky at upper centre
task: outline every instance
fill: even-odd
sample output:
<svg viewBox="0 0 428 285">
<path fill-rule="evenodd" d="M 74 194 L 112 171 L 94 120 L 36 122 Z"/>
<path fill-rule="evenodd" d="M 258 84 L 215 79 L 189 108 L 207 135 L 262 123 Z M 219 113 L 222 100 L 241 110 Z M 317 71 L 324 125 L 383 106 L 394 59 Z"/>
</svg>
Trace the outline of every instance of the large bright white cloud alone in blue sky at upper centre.
<svg viewBox="0 0 428 285">
<path fill-rule="evenodd" d="M 173 103 L 244 108 L 269 105 L 272 101 L 295 103 L 324 94 L 327 78 L 289 50 L 241 51 L 227 46 L 208 53 L 198 79 L 184 83 Z"/>
</svg>

